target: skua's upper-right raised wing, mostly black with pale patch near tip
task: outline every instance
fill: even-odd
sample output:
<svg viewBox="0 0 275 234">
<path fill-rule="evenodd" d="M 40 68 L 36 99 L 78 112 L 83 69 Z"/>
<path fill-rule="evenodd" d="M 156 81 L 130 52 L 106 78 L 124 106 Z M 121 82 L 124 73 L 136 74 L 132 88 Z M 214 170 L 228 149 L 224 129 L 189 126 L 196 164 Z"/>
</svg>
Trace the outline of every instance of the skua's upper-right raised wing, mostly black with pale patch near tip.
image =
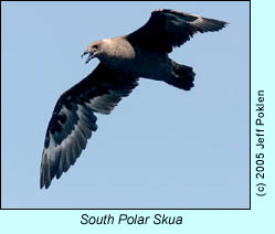
<svg viewBox="0 0 275 234">
<path fill-rule="evenodd" d="M 136 46 L 170 53 L 197 32 L 213 32 L 224 28 L 224 21 L 207 19 L 173 10 L 155 10 L 149 21 L 137 31 L 126 35 Z"/>
</svg>

